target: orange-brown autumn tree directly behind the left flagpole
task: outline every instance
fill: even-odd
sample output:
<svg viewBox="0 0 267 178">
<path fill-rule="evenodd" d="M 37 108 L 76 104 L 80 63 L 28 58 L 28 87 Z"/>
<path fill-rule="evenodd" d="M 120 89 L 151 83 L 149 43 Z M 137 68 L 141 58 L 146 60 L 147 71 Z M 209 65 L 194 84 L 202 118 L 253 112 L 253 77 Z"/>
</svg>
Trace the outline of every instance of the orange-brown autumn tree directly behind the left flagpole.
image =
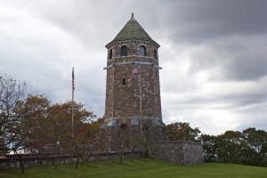
<svg viewBox="0 0 267 178">
<path fill-rule="evenodd" d="M 93 112 L 89 112 L 81 103 L 74 103 L 74 137 L 72 137 L 71 123 L 72 102 L 57 103 L 48 109 L 48 118 L 50 123 L 50 133 L 52 142 L 57 155 L 60 151 L 70 153 L 77 159 L 81 157 L 85 149 L 92 141 L 87 136 L 90 134 L 89 123 L 95 118 Z M 56 160 L 57 162 L 57 160 Z"/>
</svg>

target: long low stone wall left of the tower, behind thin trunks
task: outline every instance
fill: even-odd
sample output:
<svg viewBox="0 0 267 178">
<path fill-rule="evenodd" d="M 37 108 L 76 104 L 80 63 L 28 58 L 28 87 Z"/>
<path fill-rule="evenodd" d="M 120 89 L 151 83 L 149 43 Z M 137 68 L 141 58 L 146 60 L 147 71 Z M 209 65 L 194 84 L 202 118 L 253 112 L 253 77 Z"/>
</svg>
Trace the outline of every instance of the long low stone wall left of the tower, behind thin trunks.
<svg viewBox="0 0 267 178">
<path fill-rule="evenodd" d="M 110 152 L 108 155 L 109 159 L 119 158 L 116 152 Z M 125 152 L 124 158 L 141 158 L 141 152 Z M 105 160 L 107 155 L 105 153 L 94 154 L 85 158 L 79 158 L 79 162 L 90 162 L 95 160 Z M 24 167 L 30 166 L 44 166 L 44 165 L 54 165 L 55 160 L 57 160 L 57 155 L 22 155 L 22 161 Z M 75 163 L 76 158 L 72 158 L 70 155 L 59 156 L 58 164 L 68 164 Z M 6 155 L 0 158 L 0 170 L 9 168 L 20 168 L 19 158 L 16 155 Z"/>
</svg>

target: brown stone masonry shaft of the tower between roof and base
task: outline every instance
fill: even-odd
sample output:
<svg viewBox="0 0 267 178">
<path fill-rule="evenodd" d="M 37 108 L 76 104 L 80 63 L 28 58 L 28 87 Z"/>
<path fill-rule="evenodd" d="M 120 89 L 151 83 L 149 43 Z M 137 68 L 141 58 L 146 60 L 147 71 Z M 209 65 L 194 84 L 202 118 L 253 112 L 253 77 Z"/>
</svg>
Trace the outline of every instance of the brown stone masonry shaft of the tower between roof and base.
<svg viewBox="0 0 267 178">
<path fill-rule="evenodd" d="M 126 45 L 128 55 L 121 56 L 120 48 Z M 146 56 L 139 56 L 139 46 L 146 47 Z M 112 59 L 109 59 L 110 50 Z M 142 88 L 142 117 L 162 120 L 158 57 L 154 58 L 154 50 L 158 46 L 152 42 L 125 41 L 111 44 L 108 48 L 107 59 L 107 85 L 106 85 L 106 111 L 105 121 L 111 119 L 126 120 L 140 115 L 140 84 Z M 127 62 L 150 62 L 153 65 L 141 65 L 138 75 L 131 82 L 134 64 Z M 122 64 L 122 62 L 126 62 Z M 117 65 L 120 63 L 119 65 Z M 141 83 L 139 75 L 142 76 Z M 124 121 L 126 123 L 126 121 Z"/>
</svg>

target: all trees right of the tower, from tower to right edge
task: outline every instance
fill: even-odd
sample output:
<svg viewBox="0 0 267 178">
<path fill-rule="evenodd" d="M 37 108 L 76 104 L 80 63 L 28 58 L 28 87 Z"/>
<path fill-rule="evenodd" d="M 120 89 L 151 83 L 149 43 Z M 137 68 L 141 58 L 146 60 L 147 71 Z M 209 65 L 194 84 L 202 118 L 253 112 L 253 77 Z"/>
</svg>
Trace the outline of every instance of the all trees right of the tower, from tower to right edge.
<svg viewBox="0 0 267 178">
<path fill-rule="evenodd" d="M 201 134 L 189 123 L 176 122 L 168 127 L 170 141 L 202 142 L 206 163 L 234 163 L 267 166 L 267 133 L 247 128 L 217 136 Z"/>
</svg>

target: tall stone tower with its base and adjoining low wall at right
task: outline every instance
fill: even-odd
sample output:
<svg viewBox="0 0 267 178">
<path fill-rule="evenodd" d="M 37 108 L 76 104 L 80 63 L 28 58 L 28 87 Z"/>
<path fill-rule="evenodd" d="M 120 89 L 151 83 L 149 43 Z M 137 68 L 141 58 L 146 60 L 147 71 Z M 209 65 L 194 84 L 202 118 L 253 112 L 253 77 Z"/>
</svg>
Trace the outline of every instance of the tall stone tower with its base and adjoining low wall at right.
<svg viewBox="0 0 267 178">
<path fill-rule="evenodd" d="M 106 47 L 106 110 L 100 141 L 107 155 L 109 150 L 133 150 L 135 144 L 142 155 L 151 147 L 153 158 L 180 164 L 202 163 L 201 143 L 167 140 L 161 114 L 159 44 L 134 19 L 133 13 Z"/>
</svg>

